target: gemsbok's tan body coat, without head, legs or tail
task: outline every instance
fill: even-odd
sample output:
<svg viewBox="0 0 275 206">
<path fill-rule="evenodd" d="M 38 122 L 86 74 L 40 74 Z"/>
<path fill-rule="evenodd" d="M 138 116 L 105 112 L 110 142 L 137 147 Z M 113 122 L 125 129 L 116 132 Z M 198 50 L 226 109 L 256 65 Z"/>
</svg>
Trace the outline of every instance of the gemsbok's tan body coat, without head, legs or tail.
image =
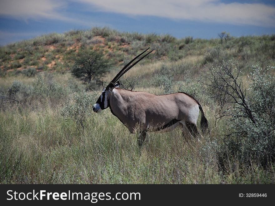
<svg viewBox="0 0 275 206">
<path fill-rule="evenodd" d="M 159 130 L 164 125 L 175 128 L 179 123 L 197 124 L 199 104 L 185 93 L 154 95 L 114 88 L 107 99 L 111 112 L 131 133 L 137 126 Z"/>
</svg>

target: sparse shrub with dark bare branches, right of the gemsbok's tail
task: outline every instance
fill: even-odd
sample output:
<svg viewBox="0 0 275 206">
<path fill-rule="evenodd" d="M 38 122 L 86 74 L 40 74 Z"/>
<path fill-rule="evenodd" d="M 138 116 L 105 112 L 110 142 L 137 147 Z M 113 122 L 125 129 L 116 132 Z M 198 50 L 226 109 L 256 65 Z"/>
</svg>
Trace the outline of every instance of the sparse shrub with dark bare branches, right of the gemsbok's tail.
<svg viewBox="0 0 275 206">
<path fill-rule="evenodd" d="M 223 116 L 247 117 L 255 123 L 251 106 L 246 99 L 246 89 L 243 87 L 240 68 L 237 68 L 237 65 L 237 61 L 230 60 L 209 68 L 209 72 L 204 73 L 204 84 L 208 87 L 208 95 L 221 108 L 218 118 Z"/>
</svg>

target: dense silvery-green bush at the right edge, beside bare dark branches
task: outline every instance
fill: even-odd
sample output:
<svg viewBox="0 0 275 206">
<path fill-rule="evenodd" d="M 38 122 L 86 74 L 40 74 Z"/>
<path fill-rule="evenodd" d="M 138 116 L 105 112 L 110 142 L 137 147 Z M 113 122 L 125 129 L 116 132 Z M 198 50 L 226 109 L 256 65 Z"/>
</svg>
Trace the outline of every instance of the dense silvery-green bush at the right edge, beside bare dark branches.
<svg viewBox="0 0 275 206">
<path fill-rule="evenodd" d="M 256 123 L 249 118 L 237 118 L 232 128 L 237 129 L 231 141 L 242 151 L 240 158 L 254 160 L 263 166 L 275 161 L 275 77 L 274 67 L 253 66 L 248 97 Z"/>
</svg>

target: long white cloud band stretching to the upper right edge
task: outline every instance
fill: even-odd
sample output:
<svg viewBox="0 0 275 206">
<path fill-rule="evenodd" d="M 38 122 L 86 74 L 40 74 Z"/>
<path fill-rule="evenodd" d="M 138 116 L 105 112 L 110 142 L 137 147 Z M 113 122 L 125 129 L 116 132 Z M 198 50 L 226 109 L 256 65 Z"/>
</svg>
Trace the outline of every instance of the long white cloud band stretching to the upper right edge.
<svg viewBox="0 0 275 206">
<path fill-rule="evenodd" d="M 275 26 L 275 7 L 262 3 L 222 3 L 220 0 L 80 1 L 91 5 L 93 11 L 151 15 L 204 22 Z"/>
</svg>

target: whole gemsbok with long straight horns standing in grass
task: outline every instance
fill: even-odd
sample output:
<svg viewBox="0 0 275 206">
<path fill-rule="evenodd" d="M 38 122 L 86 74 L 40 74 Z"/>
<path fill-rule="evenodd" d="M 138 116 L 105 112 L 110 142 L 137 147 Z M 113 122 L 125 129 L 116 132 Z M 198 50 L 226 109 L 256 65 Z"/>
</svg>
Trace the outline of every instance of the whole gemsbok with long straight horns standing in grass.
<svg viewBox="0 0 275 206">
<path fill-rule="evenodd" d="M 193 137 L 197 137 L 199 134 L 197 130 L 199 110 L 202 114 L 200 122 L 202 132 L 206 133 L 208 130 L 207 119 L 200 103 L 191 95 L 183 92 L 154 95 L 119 88 L 119 78 L 149 53 L 153 52 L 153 50 L 148 52 L 134 62 L 148 49 L 125 65 L 108 86 L 103 89 L 97 102 L 93 105 L 93 111 L 99 113 L 109 107 L 111 113 L 129 129 L 130 133 L 135 133 L 138 130 L 139 147 L 142 147 L 149 128 L 153 128 L 153 131 L 168 132 L 180 125 L 183 135 L 187 131 Z M 133 64 L 129 66 L 131 63 Z"/>
</svg>

